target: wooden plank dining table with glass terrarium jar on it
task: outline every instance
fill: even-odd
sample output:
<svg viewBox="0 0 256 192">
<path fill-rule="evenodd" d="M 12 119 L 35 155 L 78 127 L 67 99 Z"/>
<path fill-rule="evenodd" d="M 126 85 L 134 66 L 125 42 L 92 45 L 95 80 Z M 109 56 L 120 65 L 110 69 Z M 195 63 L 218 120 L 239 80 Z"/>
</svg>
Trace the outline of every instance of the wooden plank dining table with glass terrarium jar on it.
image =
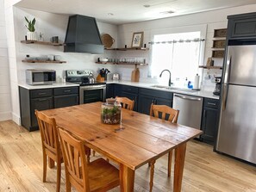
<svg viewBox="0 0 256 192">
<path fill-rule="evenodd" d="M 57 126 L 77 135 L 86 146 L 120 165 L 121 191 L 134 191 L 135 170 L 175 149 L 173 191 L 182 187 L 186 144 L 202 131 L 122 108 L 122 123 L 101 121 L 102 102 L 42 111 Z M 166 176 L 167 177 L 167 176 Z"/>
</svg>

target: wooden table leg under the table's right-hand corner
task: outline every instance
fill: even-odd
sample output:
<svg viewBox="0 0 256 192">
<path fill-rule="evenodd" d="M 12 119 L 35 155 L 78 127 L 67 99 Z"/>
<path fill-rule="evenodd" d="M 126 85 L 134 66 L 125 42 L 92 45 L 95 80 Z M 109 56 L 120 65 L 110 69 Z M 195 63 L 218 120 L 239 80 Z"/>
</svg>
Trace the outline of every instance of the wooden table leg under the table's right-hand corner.
<svg viewBox="0 0 256 192">
<path fill-rule="evenodd" d="M 175 149 L 173 192 L 181 191 L 186 145 L 184 143 Z"/>
</svg>

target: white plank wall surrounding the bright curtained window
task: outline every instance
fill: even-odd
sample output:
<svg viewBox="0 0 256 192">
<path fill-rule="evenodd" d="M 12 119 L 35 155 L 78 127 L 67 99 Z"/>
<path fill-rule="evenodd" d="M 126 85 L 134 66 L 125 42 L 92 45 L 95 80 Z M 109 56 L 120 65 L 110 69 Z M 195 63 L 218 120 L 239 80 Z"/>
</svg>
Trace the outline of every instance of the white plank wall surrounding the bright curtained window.
<svg viewBox="0 0 256 192">
<path fill-rule="evenodd" d="M 144 32 L 144 43 L 151 41 L 151 36 L 153 31 L 156 29 L 165 29 L 165 28 L 178 28 L 185 26 L 196 26 L 196 25 L 207 25 L 207 34 L 206 34 L 206 46 L 203 64 L 205 65 L 207 58 L 211 57 L 211 47 L 213 40 L 213 33 L 215 28 L 227 28 L 228 20 L 227 15 L 235 15 L 240 13 L 255 12 L 256 4 L 240 6 L 230 9 L 219 9 L 203 13 L 190 14 L 190 15 L 181 15 L 175 17 L 169 17 L 165 19 L 159 19 L 149 22 L 137 22 L 120 25 L 118 27 L 118 46 L 123 46 L 125 44 L 130 45 L 132 36 L 134 32 Z M 215 60 L 215 65 L 222 65 L 222 59 Z M 147 77 L 148 67 L 142 69 L 144 77 Z M 212 90 L 214 83 L 211 83 L 212 79 L 206 79 L 208 73 L 213 77 L 219 76 L 222 74 L 221 70 L 203 70 L 203 84 L 209 87 L 209 90 Z M 124 76 L 129 76 L 129 73 L 123 74 Z"/>
</svg>

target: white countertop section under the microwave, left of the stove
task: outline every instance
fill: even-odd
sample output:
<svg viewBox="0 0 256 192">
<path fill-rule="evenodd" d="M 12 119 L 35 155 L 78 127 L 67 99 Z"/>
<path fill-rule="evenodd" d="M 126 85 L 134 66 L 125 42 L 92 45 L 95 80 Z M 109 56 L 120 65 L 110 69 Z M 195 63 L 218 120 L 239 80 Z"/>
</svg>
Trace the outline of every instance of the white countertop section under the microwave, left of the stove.
<svg viewBox="0 0 256 192">
<path fill-rule="evenodd" d="M 78 87 L 79 84 L 72 83 L 54 83 L 54 84 L 40 84 L 40 85 L 29 85 L 26 83 L 18 84 L 19 86 L 27 90 L 39 90 L 39 89 L 50 89 L 50 88 L 60 88 L 60 87 Z"/>
</svg>

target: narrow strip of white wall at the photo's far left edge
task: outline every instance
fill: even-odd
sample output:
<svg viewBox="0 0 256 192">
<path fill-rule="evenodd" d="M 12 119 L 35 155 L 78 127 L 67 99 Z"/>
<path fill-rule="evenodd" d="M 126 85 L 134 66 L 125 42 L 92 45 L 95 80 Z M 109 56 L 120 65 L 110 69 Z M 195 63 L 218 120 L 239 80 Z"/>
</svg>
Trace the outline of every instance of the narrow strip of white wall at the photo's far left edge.
<svg viewBox="0 0 256 192">
<path fill-rule="evenodd" d="M 4 1 L 0 0 L 0 121 L 11 119 L 9 90 L 9 59 L 7 48 Z"/>
</svg>

